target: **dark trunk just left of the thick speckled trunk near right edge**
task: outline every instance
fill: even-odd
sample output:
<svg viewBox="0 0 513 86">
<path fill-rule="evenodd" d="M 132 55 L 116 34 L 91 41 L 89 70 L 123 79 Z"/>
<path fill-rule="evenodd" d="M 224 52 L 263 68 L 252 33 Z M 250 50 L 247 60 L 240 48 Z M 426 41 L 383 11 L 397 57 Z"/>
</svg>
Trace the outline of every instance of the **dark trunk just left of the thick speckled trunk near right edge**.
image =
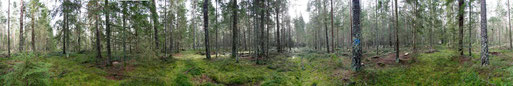
<svg viewBox="0 0 513 86">
<path fill-rule="evenodd" d="M 463 14 L 465 13 L 465 7 L 463 7 L 465 3 L 465 0 L 459 0 L 458 1 L 458 6 L 459 6 L 459 10 L 458 10 L 458 22 L 459 22 L 459 48 L 458 48 L 458 52 L 460 53 L 461 56 L 463 56 Z"/>
</svg>

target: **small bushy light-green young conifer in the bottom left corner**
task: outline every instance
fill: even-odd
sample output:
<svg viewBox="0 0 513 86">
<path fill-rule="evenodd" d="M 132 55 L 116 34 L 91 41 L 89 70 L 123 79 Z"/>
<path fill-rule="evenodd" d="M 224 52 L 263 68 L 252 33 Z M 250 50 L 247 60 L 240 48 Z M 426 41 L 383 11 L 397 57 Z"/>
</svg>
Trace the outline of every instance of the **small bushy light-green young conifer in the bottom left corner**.
<svg viewBox="0 0 513 86">
<path fill-rule="evenodd" d="M 3 75 L 2 84 L 7 86 L 48 86 L 51 64 L 40 62 L 33 54 L 23 54 L 14 57 L 12 69 Z"/>
</svg>

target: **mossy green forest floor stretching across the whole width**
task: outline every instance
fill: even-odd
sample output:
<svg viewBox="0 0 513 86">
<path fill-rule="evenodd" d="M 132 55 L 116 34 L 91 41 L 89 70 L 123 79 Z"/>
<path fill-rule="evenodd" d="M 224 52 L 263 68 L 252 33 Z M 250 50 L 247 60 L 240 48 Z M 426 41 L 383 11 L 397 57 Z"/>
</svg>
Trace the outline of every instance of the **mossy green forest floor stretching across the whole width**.
<svg viewBox="0 0 513 86">
<path fill-rule="evenodd" d="M 351 71 L 348 54 L 322 54 L 315 50 L 271 53 L 264 65 L 248 55 L 239 63 L 226 56 L 204 60 L 197 51 L 174 54 L 174 59 L 129 59 L 109 68 L 97 67 L 95 54 L 46 54 L 34 58 L 49 64 L 51 86 L 340 86 L 340 85 L 513 85 L 513 51 L 491 50 L 491 65 L 481 66 L 479 53 L 459 57 L 454 50 L 364 55 L 363 70 Z M 372 52 L 368 52 L 372 53 Z M 0 76 L 12 72 L 14 58 L 0 59 Z M 14 70 L 15 71 L 15 70 Z M 0 77 L 0 84 L 6 82 Z"/>
</svg>

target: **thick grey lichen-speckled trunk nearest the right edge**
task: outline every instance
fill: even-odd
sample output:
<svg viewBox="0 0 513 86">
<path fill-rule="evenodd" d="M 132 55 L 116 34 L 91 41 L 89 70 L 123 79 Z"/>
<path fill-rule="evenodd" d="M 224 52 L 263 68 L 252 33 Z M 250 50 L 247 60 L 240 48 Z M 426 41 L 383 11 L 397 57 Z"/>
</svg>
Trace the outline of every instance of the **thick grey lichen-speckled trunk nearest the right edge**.
<svg viewBox="0 0 513 86">
<path fill-rule="evenodd" d="M 488 33 L 486 24 L 486 0 L 481 0 L 481 65 L 490 64 L 488 58 Z"/>
</svg>

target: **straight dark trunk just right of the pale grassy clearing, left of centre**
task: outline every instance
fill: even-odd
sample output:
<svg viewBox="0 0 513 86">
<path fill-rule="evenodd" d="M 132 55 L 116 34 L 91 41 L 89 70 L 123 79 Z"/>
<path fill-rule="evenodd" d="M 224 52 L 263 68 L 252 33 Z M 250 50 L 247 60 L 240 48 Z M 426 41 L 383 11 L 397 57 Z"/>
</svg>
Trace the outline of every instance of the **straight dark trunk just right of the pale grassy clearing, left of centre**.
<svg viewBox="0 0 513 86">
<path fill-rule="evenodd" d="M 210 45 L 209 45 L 209 36 L 208 36 L 208 3 L 209 0 L 205 0 L 205 2 L 203 2 L 203 19 L 204 19 L 204 26 L 203 26 L 203 29 L 205 30 L 205 55 L 207 56 L 207 59 L 210 59 Z"/>
</svg>

